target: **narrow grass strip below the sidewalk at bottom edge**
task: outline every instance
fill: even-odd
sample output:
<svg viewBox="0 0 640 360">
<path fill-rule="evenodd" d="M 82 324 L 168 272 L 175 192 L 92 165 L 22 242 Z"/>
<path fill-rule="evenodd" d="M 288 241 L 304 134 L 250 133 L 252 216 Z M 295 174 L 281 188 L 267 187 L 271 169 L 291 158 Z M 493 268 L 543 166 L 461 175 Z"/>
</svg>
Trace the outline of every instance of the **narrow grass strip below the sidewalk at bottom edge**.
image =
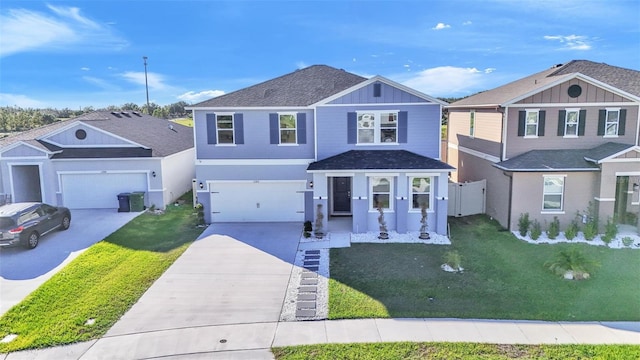
<svg viewBox="0 0 640 360">
<path fill-rule="evenodd" d="M 638 359 L 632 345 L 495 345 L 376 343 L 290 346 L 272 349 L 278 360 L 334 359 Z"/>
</svg>

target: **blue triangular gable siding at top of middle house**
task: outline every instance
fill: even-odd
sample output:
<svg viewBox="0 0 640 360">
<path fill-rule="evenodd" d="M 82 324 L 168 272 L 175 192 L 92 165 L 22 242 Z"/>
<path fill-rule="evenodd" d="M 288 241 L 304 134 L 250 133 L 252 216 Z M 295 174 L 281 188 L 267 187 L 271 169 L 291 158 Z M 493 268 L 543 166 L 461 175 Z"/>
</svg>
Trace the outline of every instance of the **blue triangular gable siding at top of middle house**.
<svg viewBox="0 0 640 360">
<path fill-rule="evenodd" d="M 425 103 L 425 99 L 383 82 L 374 82 L 341 96 L 329 104 Z"/>
</svg>

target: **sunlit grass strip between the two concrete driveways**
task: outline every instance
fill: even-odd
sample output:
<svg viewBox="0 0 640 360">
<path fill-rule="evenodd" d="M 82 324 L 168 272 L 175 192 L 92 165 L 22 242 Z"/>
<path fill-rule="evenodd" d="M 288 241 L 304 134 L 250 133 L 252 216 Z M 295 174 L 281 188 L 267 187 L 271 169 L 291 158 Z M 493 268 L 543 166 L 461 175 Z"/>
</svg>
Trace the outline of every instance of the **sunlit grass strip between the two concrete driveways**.
<svg viewBox="0 0 640 360">
<path fill-rule="evenodd" d="M 202 232 L 193 213 L 181 205 L 142 214 L 87 249 L 0 318 L 0 339 L 18 335 L 0 352 L 104 335 Z"/>
</svg>

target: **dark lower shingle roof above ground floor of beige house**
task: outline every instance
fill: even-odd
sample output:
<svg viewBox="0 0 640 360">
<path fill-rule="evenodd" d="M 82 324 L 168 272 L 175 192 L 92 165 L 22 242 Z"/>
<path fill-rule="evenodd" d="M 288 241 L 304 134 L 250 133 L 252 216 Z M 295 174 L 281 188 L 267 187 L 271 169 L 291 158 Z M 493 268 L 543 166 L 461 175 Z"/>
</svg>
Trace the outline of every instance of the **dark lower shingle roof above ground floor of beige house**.
<svg viewBox="0 0 640 360">
<path fill-rule="evenodd" d="M 605 159 L 633 145 L 606 143 L 593 149 L 531 150 L 494 164 L 507 171 L 599 171 L 593 162 Z"/>
</svg>

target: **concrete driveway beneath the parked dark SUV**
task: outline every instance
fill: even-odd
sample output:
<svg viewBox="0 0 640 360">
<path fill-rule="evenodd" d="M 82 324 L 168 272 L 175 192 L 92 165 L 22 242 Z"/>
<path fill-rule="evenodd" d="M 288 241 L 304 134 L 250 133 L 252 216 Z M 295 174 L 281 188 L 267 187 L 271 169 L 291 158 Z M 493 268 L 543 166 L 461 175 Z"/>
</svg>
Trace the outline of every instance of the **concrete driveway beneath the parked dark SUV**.
<svg viewBox="0 0 640 360">
<path fill-rule="evenodd" d="M 142 213 L 71 210 L 71 227 L 40 239 L 38 247 L 0 249 L 0 315 L 16 305 L 91 245 Z"/>
</svg>

